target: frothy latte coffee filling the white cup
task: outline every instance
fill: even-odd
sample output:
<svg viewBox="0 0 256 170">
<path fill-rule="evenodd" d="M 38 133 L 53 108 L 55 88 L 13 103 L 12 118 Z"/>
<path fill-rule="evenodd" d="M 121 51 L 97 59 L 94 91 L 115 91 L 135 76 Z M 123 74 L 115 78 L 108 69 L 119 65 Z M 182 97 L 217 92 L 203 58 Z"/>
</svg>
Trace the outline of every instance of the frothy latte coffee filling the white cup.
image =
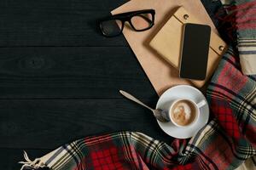
<svg viewBox="0 0 256 170">
<path fill-rule="evenodd" d="M 194 122 L 197 116 L 196 107 L 189 100 L 179 100 L 172 105 L 170 116 L 172 117 L 172 121 L 177 125 L 188 126 L 190 123 Z"/>
</svg>

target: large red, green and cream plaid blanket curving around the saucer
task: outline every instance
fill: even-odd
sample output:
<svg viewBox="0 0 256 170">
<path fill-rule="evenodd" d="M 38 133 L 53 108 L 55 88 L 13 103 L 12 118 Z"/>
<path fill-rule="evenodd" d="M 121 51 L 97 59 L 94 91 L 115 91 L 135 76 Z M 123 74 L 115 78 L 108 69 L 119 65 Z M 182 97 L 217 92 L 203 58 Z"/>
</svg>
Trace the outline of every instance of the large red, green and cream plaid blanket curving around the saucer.
<svg viewBox="0 0 256 170">
<path fill-rule="evenodd" d="M 238 56 L 229 48 L 221 59 L 207 88 L 214 118 L 189 142 L 175 139 L 168 145 L 143 133 L 110 133 L 62 145 L 34 161 L 25 152 L 21 168 L 235 169 L 249 157 L 255 163 L 256 78 L 241 73 Z"/>
</svg>

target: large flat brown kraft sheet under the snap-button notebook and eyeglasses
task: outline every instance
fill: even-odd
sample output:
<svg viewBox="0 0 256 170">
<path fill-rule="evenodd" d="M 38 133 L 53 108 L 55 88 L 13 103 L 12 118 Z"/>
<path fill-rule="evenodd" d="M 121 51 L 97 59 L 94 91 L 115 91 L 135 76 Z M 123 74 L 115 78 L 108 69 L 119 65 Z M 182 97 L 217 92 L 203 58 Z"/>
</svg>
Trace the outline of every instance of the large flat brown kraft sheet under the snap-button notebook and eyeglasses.
<svg viewBox="0 0 256 170">
<path fill-rule="evenodd" d="M 112 14 L 119 14 L 134 10 L 154 8 L 155 20 L 154 26 L 151 29 L 137 32 L 125 26 L 123 34 L 139 63 L 142 65 L 148 79 L 154 86 L 155 91 L 159 95 L 172 86 L 178 84 L 192 84 L 188 80 L 179 78 L 177 69 L 149 47 L 149 42 L 155 34 L 160 31 L 160 28 L 166 24 L 166 21 L 170 19 L 172 14 L 174 14 L 180 6 L 186 8 L 189 14 L 196 14 L 198 20 L 204 20 L 207 25 L 211 26 L 212 31 L 217 33 L 201 0 L 194 0 L 193 2 L 186 0 L 131 0 L 111 12 Z"/>
</svg>

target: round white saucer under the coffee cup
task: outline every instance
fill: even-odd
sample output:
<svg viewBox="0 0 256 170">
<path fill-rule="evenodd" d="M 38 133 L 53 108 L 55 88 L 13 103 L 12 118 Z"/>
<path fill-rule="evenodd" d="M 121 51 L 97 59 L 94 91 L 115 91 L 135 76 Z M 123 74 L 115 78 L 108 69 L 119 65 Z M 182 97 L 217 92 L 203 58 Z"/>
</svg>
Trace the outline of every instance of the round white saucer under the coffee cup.
<svg viewBox="0 0 256 170">
<path fill-rule="evenodd" d="M 156 108 L 168 110 L 174 100 L 182 98 L 191 99 L 195 101 L 195 103 L 198 103 L 203 99 L 207 102 L 205 96 L 197 88 L 193 88 L 192 86 L 188 85 L 178 85 L 173 88 L 169 88 L 164 94 L 160 96 Z M 188 127 L 177 127 L 173 125 L 172 122 L 157 122 L 160 128 L 168 135 L 177 139 L 187 139 L 194 136 L 195 133 L 201 129 L 201 127 L 205 126 L 208 119 L 209 105 L 207 103 L 207 105 L 201 107 L 200 117 L 197 122 L 189 125 Z"/>
</svg>

